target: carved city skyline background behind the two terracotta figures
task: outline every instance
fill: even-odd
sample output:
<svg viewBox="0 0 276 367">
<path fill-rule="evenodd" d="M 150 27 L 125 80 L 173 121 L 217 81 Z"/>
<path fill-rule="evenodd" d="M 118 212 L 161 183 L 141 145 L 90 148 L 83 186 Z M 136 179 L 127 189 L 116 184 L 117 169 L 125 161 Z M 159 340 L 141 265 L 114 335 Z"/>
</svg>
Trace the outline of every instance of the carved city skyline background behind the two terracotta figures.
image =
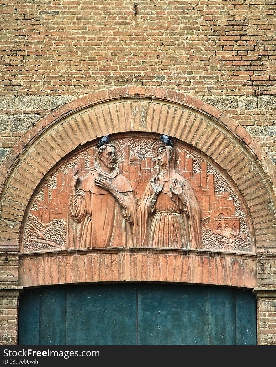
<svg viewBox="0 0 276 367">
<path fill-rule="evenodd" d="M 116 145 L 120 170 L 134 190 L 137 207 L 156 172 L 154 152 L 161 145 L 158 138 L 159 135 L 145 135 L 111 139 Z M 44 183 L 28 214 L 21 252 L 65 248 L 70 182 L 77 169 L 82 178 L 97 161 L 95 145 L 75 154 Z M 175 148 L 177 169 L 189 182 L 201 208 L 203 249 L 252 251 L 246 214 L 229 183 L 184 144 L 177 142 Z"/>
</svg>

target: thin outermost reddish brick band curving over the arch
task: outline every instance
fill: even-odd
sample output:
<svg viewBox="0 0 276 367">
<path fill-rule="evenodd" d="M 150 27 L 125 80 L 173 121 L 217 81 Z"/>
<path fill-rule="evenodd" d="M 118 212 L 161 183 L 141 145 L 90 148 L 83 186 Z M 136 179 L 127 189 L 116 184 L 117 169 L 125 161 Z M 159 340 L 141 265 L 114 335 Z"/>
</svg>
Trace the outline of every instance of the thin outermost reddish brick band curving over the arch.
<svg viewBox="0 0 276 367">
<path fill-rule="evenodd" d="M 153 88 L 153 87 L 120 87 L 113 88 L 110 90 L 100 90 L 88 95 L 84 95 L 80 98 L 75 99 L 74 101 L 70 101 L 65 105 L 59 107 L 58 109 L 52 111 L 47 116 L 43 117 L 40 121 L 36 123 L 34 127 L 32 127 L 29 131 L 27 131 L 21 140 L 17 142 L 12 149 L 10 155 L 6 158 L 5 163 L 2 165 L 2 171 L 0 172 L 0 177 L 4 180 L 7 177 L 8 171 L 10 171 L 12 166 L 12 161 L 16 159 L 18 154 L 22 151 L 25 145 L 27 145 L 32 139 L 37 137 L 39 133 L 51 125 L 54 121 L 60 120 L 62 117 L 68 116 L 70 113 L 75 112 L 77 110 L 86 108 L 92 104 L 97 104 L 102 101 L 108 101 L 115 98 L 127 98 L 130 96 L 140 96 L 142 97 L 151 97 L 151 98 L 159 98 L 162 100 L 167 100 L 170 102 L 180 103 L 182 106 L 186 105 L 193 109 L 202 111 L 203 113 L 208 113 L 211 117 L 215 117 L 221 121 L 223 126 L 226 126 L 230 132 L 234 135 L 239 136 L 246 144 L 249 145 L 251 151 L 261 160 L 266 154 L 261 149 L 261 147 L 257 144 L 257 142 L 251 138 L 251 136 L 233 119 L 227 116 L 225 113 L 222 113 L 221 110 L 209 105 L 206 102 L 201 101 L 195 97 L 184 94 L 182 92 L 178 92 L 175 90 L 167 90 L 165 88 Z M 116 130 L 116 129 L 115 129 Z M 269 161 L 264 162 L 264 167 L 267 170 L 273 172 L 272 177 L 275 177 L 276 174 L 275 168 L 272 167 Z M 3 170 L 5 170 L 3 172 Z"/>
</svg>

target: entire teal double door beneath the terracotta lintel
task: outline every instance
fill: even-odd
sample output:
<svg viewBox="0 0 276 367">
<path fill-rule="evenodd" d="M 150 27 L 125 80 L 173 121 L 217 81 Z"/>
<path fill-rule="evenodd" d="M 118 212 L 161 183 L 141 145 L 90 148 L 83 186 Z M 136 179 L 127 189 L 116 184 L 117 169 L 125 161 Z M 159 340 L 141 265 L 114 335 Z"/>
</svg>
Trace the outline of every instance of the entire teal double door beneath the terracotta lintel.
<svg viewBox="0 0 276 367">
<path fill-rule="evenodd" d="M 250 291 L 164 284 L 26 290 L 21 345 L 256 344 Z"/>
</svg>

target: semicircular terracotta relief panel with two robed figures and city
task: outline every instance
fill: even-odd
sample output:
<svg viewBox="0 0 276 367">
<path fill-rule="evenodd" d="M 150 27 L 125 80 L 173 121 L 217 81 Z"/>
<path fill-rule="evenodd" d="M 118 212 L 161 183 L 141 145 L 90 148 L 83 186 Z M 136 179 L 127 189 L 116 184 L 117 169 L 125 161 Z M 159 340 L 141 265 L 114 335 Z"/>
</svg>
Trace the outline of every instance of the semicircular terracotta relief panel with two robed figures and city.
<svg viewBox="0 0 276 367">
<path fill-rule="evenodd" d="M 124 134 L 107 145 L 88 146 L 48 176 L 25 219 L 22 253 L 253 251 L 237 190 L 195 150 L 178 141 L 165 145 L 154 134 Z"/>
</svg>

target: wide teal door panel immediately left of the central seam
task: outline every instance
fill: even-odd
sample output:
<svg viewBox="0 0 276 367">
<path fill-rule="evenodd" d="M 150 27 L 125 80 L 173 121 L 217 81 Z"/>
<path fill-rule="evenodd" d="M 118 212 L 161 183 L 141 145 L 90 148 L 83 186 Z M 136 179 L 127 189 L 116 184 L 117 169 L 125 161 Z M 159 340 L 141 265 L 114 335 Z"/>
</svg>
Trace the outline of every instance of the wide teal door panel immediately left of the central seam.
<svg viewBox="0 0 276 367">
<path fill-rule="evenodd" d="M 136 287 L 74 287 L 67 298 L 66 344 L 136 345 Z"/>
</svg>

